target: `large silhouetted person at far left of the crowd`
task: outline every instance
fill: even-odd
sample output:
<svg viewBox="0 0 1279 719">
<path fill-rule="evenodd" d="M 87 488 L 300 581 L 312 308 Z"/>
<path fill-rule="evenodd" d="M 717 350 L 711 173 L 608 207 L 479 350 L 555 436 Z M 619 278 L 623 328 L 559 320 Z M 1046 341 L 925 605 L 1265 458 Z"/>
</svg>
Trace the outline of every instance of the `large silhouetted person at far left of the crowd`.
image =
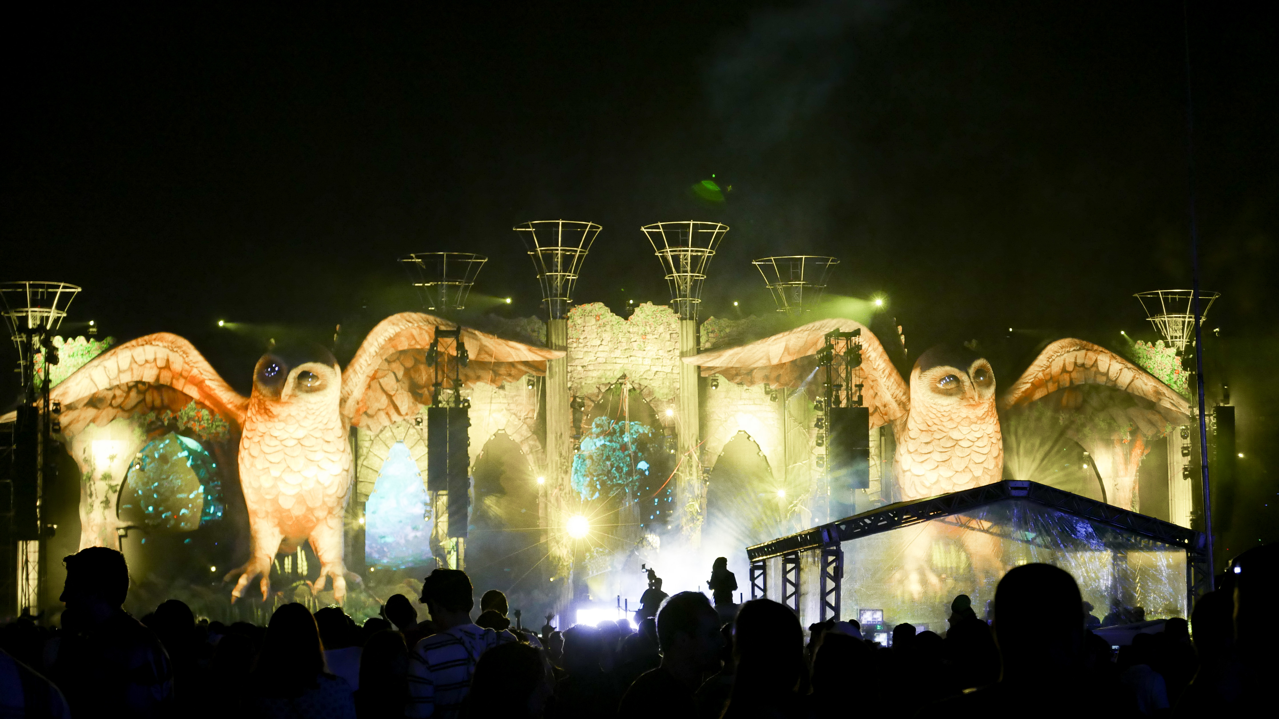
<svg viewBox="0 0 1279 719">
<path fill-rule="evenodd" d="M 169 716 L 173 669 L 160 640 L 122 605 L 129 568 L 114 549 L 91 546 L 63 559 L 67 582 L 54 682 L 78 716 Z"/>
</svg>

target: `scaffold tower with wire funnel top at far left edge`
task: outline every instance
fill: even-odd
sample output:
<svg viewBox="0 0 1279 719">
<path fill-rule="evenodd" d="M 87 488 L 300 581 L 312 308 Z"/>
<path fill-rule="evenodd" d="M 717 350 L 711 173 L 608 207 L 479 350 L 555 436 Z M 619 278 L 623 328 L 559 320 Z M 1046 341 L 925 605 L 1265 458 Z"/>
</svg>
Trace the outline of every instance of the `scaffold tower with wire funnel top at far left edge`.
<svg viewBox="0 0 1279 719">
<path fill-rule="evenodd" d="M 18 349 L 22 386 L 17 418 L 6 426 L 0 449 L 0 614 L 5 615 L 40 612 L 45 459 L 61 411 L 49 399 L 49 367 L 58 363 L 51 340 L 79 290 L 58 281 L 0 283 L 0 313 Z M 40 352 L 45 377 L 37 391 L 33 358 Z"/>
</svg>

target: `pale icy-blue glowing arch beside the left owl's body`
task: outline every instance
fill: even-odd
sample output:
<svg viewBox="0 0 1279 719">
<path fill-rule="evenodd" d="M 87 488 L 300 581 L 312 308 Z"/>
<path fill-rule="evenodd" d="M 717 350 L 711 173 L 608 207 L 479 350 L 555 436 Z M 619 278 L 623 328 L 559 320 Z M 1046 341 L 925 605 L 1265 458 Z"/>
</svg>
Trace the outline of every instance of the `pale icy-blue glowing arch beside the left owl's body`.
<svg viewBox="0 0 1279 719">
<path fill-rule="evenodd" d="M 391 446 L 365 504 L 365 560 L 376 567 L 425 567 L 431 559 L 427 495 L 403 441 Z"/>
</svg>

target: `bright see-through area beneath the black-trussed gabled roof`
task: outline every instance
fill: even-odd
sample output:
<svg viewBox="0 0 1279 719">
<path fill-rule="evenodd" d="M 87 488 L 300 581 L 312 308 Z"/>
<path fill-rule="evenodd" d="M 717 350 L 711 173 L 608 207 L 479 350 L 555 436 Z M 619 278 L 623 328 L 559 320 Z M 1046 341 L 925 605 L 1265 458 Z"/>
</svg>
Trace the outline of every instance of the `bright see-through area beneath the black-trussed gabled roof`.
<svg viewBox="0 0 1279 719">
<path fill-rule="evenodd" d="M 1099 619 L 1111 608 L 1136 606 L 1151 619 L 1187 615 L 1183 548 L 1030 502 L 999 502 L 842 548 L 843 606 L 883 609 L 893 623 L 945 628 L 950 600 L 959 594 L 972 599 L 981 617 L 1000 577 L 1032 562 L 1069 572 Z M 803 608 L 804 615 L 813 617 L 820 595 L 807 585 L 816 582 L 819 571 L 816 563 L 803 569 L 803 596 L 812 604 Z"/>
</svg>

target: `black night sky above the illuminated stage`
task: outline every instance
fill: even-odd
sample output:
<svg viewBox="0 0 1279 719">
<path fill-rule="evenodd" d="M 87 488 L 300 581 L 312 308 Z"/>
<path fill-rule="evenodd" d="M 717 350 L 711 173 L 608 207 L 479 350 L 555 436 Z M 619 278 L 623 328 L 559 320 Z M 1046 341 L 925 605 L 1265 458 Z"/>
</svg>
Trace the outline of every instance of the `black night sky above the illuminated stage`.
<svg viewBox="0 0 1279 719">
<path fill-rule="evenodd" d="M 1232 554 L 1279 539 L 1279 23 L 1260 5 L 1189 18 L 1223 293 L 1206 376 L 1246 454 Z M 182 334 L 244 391 L 267 336 L 341 324 L 345 361 L 420 310 L 407 252 L 485 253 L 472 308 L 537 312 L 526 220 L 601 224 L 576 299 L 619 312 L 668 298 L 642 224 L 732 226 L 702 317 L 771 311 L 752 258 L 838 256 L 831 294 L 885 293 L 914 356 L 978 339 L 1005 386 L 1046 339 L 1152 338 L 1132 293 L 1191 281 L 1179 3 L 22 13 L 0 279 L 78 284 L 64 329 Z M 691 191 L 712 177 L 721 203 Z"/>
</svg>

